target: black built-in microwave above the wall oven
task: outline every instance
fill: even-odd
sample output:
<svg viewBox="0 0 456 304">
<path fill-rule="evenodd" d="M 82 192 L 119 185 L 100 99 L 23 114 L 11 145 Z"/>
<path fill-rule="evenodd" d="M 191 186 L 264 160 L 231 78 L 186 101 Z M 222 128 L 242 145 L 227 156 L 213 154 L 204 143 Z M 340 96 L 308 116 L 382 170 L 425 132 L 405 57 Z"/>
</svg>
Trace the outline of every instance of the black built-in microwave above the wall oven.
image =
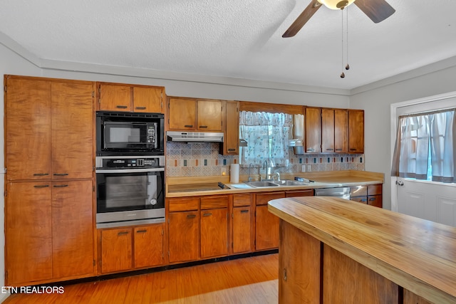
<svg viewBox="0 0 456 304">
<path fill-rule="evenodd" d="M 97 156 L 163 155 L 164 119 L 161 113 L 97 112 Z"/>
</svg>

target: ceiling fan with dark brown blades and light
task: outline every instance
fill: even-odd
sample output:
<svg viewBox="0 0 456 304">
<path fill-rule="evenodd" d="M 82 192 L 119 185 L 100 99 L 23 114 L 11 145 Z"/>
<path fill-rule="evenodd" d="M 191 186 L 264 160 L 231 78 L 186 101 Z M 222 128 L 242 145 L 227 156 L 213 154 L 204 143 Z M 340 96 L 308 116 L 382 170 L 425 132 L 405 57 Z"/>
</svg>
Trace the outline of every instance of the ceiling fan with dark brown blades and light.
<svg viewBox="0 0 456 304">
<path fill-rule="evenodd" d="M 387 19 L 395 12 L 395 9 L 385 0 L 312 0 L 282 37 L 287 38 L 296 35 L 304 24 L 311 19 L 311 16 L 314 16 L 315 12 L 320 9 L 322 4 L 329 9 L 344 9 L 352 3 L 356 4 L 375 23 Z"/>
</svg>

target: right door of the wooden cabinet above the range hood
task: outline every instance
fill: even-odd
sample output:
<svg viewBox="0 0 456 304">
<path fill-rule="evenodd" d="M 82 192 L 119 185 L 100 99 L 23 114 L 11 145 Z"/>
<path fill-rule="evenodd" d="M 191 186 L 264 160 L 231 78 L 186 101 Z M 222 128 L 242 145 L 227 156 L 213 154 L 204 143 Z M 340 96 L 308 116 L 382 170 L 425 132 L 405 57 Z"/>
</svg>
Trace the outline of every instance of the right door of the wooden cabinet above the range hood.
<svg viewBox="0 0 456 304">
<path fill-rule="evenodd" d="M 222 100 L 197 100 L 197 130 L 222 131 Z"/>
</svg>

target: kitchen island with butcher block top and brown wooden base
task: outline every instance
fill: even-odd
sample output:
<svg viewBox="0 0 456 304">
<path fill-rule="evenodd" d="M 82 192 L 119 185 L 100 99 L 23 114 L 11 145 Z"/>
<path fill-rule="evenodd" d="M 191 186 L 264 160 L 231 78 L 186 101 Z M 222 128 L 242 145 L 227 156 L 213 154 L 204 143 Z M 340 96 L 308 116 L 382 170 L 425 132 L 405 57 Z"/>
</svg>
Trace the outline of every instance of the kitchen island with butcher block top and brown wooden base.
<svg viewBox="0 0 456 304">
<path fill-rule="evenodd" d="M 268 209 L 281 219 L 280 303 L 456 303 L 456 228 L 327 196 Z"/>
</svg>

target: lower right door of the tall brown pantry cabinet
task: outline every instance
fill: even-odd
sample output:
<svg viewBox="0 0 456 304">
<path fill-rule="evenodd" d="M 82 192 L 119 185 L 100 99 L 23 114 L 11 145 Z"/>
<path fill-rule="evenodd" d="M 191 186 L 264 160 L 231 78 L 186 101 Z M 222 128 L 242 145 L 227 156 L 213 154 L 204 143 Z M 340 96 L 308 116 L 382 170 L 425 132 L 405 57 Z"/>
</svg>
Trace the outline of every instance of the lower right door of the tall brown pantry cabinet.
<svg viewBox="0 0 456 304">
<path fill-rule="evenodd" d="M 53 278 L 94 274 L 92 181 L 52 183 Z"/>
</svg>

